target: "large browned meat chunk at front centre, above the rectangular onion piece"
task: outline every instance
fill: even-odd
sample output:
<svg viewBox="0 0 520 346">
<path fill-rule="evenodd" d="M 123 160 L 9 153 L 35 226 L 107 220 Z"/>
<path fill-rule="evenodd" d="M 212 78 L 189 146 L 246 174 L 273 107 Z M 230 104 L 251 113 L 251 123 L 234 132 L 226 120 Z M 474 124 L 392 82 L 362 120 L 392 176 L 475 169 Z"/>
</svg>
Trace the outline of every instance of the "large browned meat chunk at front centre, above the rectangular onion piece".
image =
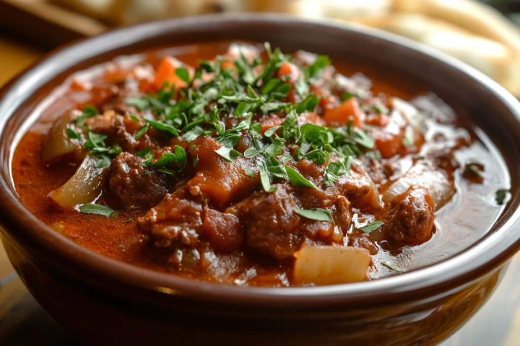
<svg viewBox="0 0 520 346">
<path fill-rule="evenodd" d="M 259 192 L 241 202 L 239 218 L 245 223 L 246 242 L 259 252 L 278 260 L 290 258 L 304 239 L 300 209 L 288 184 L 276 185 L 275 192 Z"/>
</svg>

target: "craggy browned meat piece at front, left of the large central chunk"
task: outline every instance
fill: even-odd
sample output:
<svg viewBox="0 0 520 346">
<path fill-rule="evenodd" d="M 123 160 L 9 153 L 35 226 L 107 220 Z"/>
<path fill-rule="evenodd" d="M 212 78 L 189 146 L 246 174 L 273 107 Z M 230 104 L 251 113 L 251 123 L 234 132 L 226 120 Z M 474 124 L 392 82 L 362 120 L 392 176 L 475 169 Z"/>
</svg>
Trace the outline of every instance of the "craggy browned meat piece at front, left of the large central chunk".
<svg viewBox="0 0 520 346">
<path fill-rule="evenodd" d="M 186 190 L 168 193 L 157 206 L 137 220 L 137 227 L 149 234 L 155 246 L 184 244 L 195 247 L 202 227 L 204 204 Z"/>
</svg>

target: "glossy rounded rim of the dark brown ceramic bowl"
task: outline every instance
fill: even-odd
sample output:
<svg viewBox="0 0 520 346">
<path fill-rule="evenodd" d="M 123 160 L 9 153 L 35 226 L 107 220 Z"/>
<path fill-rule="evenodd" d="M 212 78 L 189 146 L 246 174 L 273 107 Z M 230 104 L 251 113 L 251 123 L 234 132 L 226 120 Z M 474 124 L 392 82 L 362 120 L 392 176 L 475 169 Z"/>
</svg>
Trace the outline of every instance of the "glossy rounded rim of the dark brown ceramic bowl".
<svg viewBox="0 0 520 346">
<path fill-rule="evenodd" d="M 49 67 L 51 63 L 58 60 L 67 61 L 67 57 L 77 54 L 82 49 L 93 49 L 94 52 L 79 61 L 137 43 L 140 40 L 152 37 L 151 35 L 154 34 L 178 31 L 190 27 L 190 25 L 202 25 L 205 30 L 210 30 L 212 27 L 215 28 L 219 25 L 239 26 L 255 22 L 268 22 L 276 25 L 311 25 L 326 27 L 330 30 L 350 31 L 420 53 L 422 57 L 448 65 L 458 73 L 472 78 L 480 87 L 485 88 L 496 100 L 505 105 L 515 119 L 520 122 L 520 103 L 495 81 L 444 53 L 409 39 L 342 21 L 328 20 L 327 23 L 324 23 L 323 21 L 299 19 L 274 13 L 240 13 L 238 15 L 227 13 L 225 15 L 168 19 L 122 27 L 51 51 L 0 90 L 0 136 L 4 136 L 4 128 L 8 120 L 27 101 L 20 97 L 20 91 L 30 89 L 31 86 L 35 90 L 40 89 L 60 73 L 51 71 Z M 68 67 L 70 66 L 63 68 Z M 17 129 L 18 134 L 27 131 L 28 121 L 27 118 L 23 120 L 22 126 Z M 26 125 L 25 129 L 22 129 L 24 125 Z M 508 213 L 506 213 L 508 214 L 507 219 L 504 221 L 501 217 L 491 228 L 492 231 L 461 253 L 437 264 L 372 282 L 321 287 L 264 288 L 240 287 L 181 278 L 99 255 L 61 236 L 37 219 L 18 199 L 14 186 L 7 179 L 7 177 L 11 177 L 12 147 L 16 144 L 10 144 L 9 153 L 6 153 L 4 149 L 0 151 L 0 160 L 8 155 L 8 170 L 6 171 L 4 166 L 0 169 L 2 173 L 0 174 L 0 207 L 4 211 L 0 216 L 0 224 L 3 225 L 1 231 L 4 236 L 10 240 L 24 242 L 24 246 L 32 246 L 33 249 L 40 246 L 40 251 L 42 251 L 42 248 L 46 248 L 46 251 L 51 249 L 55 256 L 67 260 L 67 264 L 61 263 L 58 265 L 56 262 L 54 263 L 65 271 L 67 271 L 68 266 L 74 264 L 88 273 L 94 274 L 94 276 L 134 288 L 151 289 L 154 292 L 166 295 L 189 296 L 207 301 L 232 302 L 241 305 L 253 304 L 266 307 L 294 304 L 316 306 L 332 301 L 345 304 L 355 303 L 357 306 L 376 301 L 391 303 L 400 298 L 406 300 L 412 297 L 425 298 L 439 292 L 448 294 L 453 287 L 469 285 L 483 273 L 496 269 L 520 248 L 520 232 L 517 232 L 518 234 L 514 232 L 520 227 L 520 209 L 511 211 L 506 208 L 508 210 Z M 516 191 L 513 193 L 511 200 L 519 198 L 520 192 Z M 505 212 L 502 215 L 505 215 Z M 25 240 L 22 240 L 22 236 L 25 237 Z M 30 245 L 28 245 L 27 237 L 31 239 Z M 69 274 L 76 277 L 83 275 L 70 271 Z M 92 276 L 83 275 L 84 280 L 92 282 L 90 278 Z"/>
</svg>

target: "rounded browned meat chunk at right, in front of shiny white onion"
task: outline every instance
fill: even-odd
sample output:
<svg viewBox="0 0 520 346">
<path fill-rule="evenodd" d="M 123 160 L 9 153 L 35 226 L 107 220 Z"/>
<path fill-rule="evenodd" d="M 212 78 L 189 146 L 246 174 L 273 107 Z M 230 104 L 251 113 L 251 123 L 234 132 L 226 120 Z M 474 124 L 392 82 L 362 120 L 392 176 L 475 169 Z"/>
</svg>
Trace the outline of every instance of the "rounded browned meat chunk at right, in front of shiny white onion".
<svg viewBox="0 0 520 346">
<path fill-rule="evenodd" d="M 392 245 L 420 245 L 432 236 L 434 201 L 420 186 L 410 188 L 388 204 L 382 226 L 384 238 Z"/>
</svg>

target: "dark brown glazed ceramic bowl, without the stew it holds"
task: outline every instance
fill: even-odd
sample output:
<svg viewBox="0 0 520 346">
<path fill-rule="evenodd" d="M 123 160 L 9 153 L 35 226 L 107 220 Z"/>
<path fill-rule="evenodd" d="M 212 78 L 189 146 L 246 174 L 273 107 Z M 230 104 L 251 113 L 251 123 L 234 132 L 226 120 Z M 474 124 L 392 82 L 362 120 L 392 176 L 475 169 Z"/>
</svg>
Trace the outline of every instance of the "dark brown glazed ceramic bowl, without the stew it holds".
<svg viewBox="0 0 520 346">
<path fill-rule="evenodd" d="M 462 104 L 508 164 L 513 193 L 504 213 L 473 246 L 427 268 L 349 285 L 254 288 L 191 281 L 102 257 L 25 209 L 12 183 L 12 151 L 34 122 L 35 107 L 64 78 L 120 54 L 222 39 L 269 40 L 287 51 L 326 53 L 336 61 L 355 57 Z M 38 302 L 96 345 L 433 344 L 482 306 L 520 246 L 520 104 L 472 68 L 383 32 L 271 15 L 149 23 L 51 53 L 0 98 L 2 241 Z"/>
</svg>

